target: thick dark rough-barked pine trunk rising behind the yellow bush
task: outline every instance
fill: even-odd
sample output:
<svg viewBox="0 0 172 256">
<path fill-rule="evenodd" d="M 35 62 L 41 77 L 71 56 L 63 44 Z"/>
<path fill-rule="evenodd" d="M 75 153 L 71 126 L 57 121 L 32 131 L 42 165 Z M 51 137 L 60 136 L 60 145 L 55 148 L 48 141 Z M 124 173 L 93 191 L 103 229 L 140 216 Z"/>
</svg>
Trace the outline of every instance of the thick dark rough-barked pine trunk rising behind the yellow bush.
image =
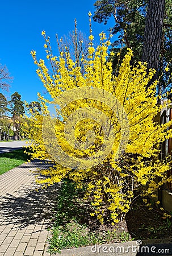
<svg viewBox="0 0 172 256">
<path fill-rule="evenodd" d="M 142 61 L 148 63 L 148 70 L 154 68 L 158 71 L 164 9 L 165 0 L 149 0 L 142 50 Z M 157 73 L 153 80 L 156 78 Z"/>
</svg>

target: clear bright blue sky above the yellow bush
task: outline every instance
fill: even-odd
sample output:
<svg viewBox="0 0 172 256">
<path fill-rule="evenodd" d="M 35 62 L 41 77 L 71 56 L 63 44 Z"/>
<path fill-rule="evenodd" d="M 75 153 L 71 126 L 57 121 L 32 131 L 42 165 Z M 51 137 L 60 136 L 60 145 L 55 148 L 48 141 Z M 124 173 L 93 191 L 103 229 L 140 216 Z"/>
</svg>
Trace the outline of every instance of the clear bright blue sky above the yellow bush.
<svg viewBox="0 0 172 256">
<path fill-rule="evenodd" d="M 94 14 L 95 0 L 58 1 L 58 0 L 6 0 L 1 2 L 0 24 L 0 63 L 6 65 L 12 77 L 10 92 L 5 93 L 7 100 L 17 91 L 22 100 L 37 100 L 37 92 L 44 93 L 43 84 L 36 75 L 30 51 L 34 49 L 37 57 L 45 59 L 44 39 L 41 31 L 50 36 L 53 47 L 56 47 L 56 34 L 60 38 L 74 30 L 74 19 L 77 19 L 78 30 L 89 35 L 89 17 Z M 92 22 L 93 34 L 107 32 L 114 26 L 111 19 L 107 26 Z"/>
</svg>

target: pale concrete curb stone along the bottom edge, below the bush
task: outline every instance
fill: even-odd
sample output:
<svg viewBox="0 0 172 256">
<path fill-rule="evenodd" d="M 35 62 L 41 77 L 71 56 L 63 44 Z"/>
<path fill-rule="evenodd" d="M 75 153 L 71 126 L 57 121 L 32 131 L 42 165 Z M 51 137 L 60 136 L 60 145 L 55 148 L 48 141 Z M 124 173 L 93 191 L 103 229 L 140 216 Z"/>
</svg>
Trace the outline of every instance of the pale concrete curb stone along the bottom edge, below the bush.
<svg viewBox="0 0 172 256">
<path fill-rule="evenodd" d="M 159 250 L 159 251 L 158 251 Z M 161 252 L 160 252 L 161 251 Z M 172 238 L 169 240 L 137 240 L 61 250 L 51 256 L 171 256 Z"/>
</svg>

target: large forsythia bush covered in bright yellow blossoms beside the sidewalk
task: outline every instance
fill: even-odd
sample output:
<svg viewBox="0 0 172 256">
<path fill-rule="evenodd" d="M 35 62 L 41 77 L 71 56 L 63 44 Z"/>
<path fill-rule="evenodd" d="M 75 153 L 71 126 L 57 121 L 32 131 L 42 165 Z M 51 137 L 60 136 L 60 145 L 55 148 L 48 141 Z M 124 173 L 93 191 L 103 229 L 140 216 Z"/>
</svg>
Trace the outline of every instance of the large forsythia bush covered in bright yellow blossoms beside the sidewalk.
<svg viewBox="0 0 172 256">
<path fill-rule="evenodd" d="M 141 62 L 131 67 L 131 49 L 113 75 L 104 33 L 97 48 L 90 35 L 88 59 L 82 56 L 84 72 L 67 49 L 60 57 L 53 56 L 49 38 L 44 31 L 42 35 L 51 71 L 44 60 L 37 60 L 35 51 L 31 54 L 52 100 L 39 94 L 41 113 L 31 110 L 26 129 L 32 158 L 51 159 L 53 167 L 40 170 L 44 176 L 37 181 L 51 185 L 69 177 L 78 186 L 86 183 L 85 197 L 93 198 L 94 214 L 100 222 L 109 217 L 114 224 L 125 217 L 135 192 L 156 197 L 157 189 L 171 180 L 170 161 L 158 159 L 162 141 L 171 136 L 171 123 L 153 121 L 165 106 L 157 105 L 158 81 L 146 89 L 154 71 L 147 74 Z"/>
</svg>

